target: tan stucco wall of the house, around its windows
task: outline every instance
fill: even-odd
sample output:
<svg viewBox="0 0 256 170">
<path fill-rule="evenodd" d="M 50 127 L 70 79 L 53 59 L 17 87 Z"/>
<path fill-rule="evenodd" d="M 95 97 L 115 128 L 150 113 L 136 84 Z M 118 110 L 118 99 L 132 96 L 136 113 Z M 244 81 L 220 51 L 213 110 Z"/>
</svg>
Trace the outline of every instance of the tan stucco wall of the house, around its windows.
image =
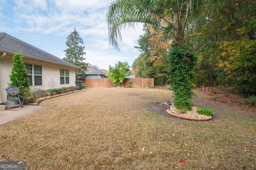
<svg viewBox="0 0 256 170">
<path fill-rule="evenodd" d="M 42 65 L 42 86 L 30 86 L 30 88 L 37 89 L 51 89 L 50 82 L 53 80 L 55 83 L 54 88 L 76 86 L 76 70 L 71 67 L 66 67 L 57 64 L 45 63 L 42 61 L 31 60 L 29 58 L 23 57 L 24 63 Z M 4 90 L 8 87 L 10 83 L 9 75 L 12 71 L 12 56 L 6 55 L 0 58 L 0 102 L 6 101 L 6 91 Z M 60 69 L 69 70 L 69 84 L 60 84 Z"/>
</svg>

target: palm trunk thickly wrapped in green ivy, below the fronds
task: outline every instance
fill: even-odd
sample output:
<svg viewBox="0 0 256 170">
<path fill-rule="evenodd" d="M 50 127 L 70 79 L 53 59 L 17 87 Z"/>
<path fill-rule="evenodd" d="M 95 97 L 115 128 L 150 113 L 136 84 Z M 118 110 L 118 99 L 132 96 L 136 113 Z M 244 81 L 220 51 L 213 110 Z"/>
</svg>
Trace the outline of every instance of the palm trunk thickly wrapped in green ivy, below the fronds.
<svg viewBox="0 0 256 170">
<path fill-rule="evenodd" d="M 174 92 L 174 105 L 182 112 L 191 111 L 193 80 L 195 77 L 194 66 L 197 57 L 181 45 L 173 45 L 167 54 L 169 63 L 168 73 L 172 90 Z"/>
</svg>

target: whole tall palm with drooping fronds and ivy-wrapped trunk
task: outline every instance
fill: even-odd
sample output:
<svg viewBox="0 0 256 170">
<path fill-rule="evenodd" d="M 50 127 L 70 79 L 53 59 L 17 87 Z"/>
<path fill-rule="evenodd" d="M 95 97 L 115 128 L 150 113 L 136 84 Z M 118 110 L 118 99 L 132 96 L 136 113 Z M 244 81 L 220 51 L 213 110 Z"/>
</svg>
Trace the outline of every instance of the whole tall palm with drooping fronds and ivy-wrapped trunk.
<svg viewBox="0 0 256 170">
<path fill-rule="evenodd" d="M 173 40 L 176 46 L 169 53 L 169 82 L 175 95 L 174 104 L 185 111 L 193 106 L 191 82 L 196 57 L 187 53 L 183 46 L 188 43 L 189 29 L 197 20 L 199 8 L 208 4 L 206 1 L 212 0 L 116 0 L 110 3 L 107 12 L 109 43 L 118 50 L 121 30 L 134 27 L 136 23 L 144 23 L 155 32 L 163 31 Z M 173 61 L 177 60 L 182 66 L 175 67 Z"/>
</svg>

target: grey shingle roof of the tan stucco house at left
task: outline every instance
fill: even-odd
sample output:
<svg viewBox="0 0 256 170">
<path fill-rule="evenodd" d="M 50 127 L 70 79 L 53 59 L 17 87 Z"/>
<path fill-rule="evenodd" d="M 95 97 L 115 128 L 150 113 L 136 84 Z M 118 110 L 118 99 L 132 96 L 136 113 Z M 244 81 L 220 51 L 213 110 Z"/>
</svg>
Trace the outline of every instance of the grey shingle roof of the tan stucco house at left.
<svg viewBox="0 0 256 170">
<path fill-rule="evenodd" d="M 42 49 L 25 43 L 18 38 L 12 37 L 5 32 L 0 32 L 0 49 L 13 53 L 21 52 L 23 55 L 79 69 L 79 67 L 69 62 L 66 62 L 57 56 L 47 53 Z"/>
</svg>

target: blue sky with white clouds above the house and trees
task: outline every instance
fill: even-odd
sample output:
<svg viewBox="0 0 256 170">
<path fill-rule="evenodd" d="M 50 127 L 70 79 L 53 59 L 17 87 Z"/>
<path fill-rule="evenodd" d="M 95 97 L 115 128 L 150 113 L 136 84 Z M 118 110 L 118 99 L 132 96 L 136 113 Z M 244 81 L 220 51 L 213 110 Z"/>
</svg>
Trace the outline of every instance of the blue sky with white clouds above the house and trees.
<svg viewBox="0 0 256 170">
<path fill-rule="evenodd" d="M 110 0 L 0 0 L 0 32 L 21 39 L 57 57 L 65 57 L 66 38 L 78 31 L 84 40 L 85 62 L 109 69 L 118 61 L 132 65 L 142 24 L 122 30 L 118 52 L 108 43 L 106 13 Z"/>
</svg>

